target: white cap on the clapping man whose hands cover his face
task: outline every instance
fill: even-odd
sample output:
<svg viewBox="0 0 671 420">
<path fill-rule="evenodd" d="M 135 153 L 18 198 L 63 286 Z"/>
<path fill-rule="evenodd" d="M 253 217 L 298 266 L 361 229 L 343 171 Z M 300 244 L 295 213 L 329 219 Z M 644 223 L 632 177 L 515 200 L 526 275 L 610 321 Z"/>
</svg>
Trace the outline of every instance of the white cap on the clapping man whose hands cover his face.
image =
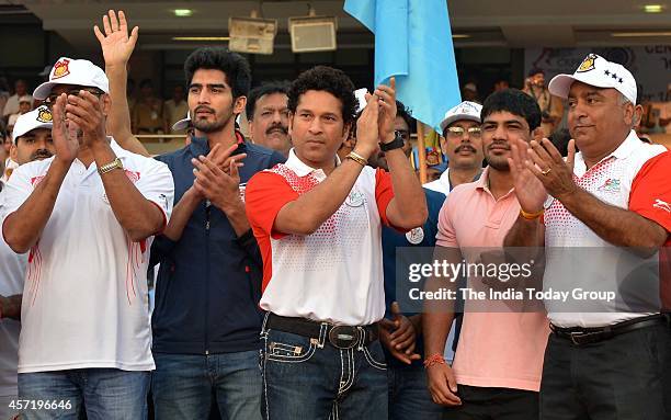
<svg viewBox="0 0 671 420">
<path fill-rule="evenodd" d="M 60 57 L 49 73 L 49 81 L 39 84 L 33 97 L 45 100 L 52 93 L 52 89 L 58 84 L 86 86 L 110 93 L 110 81 L 105 72 L 89 60 Z"/>
</svg>

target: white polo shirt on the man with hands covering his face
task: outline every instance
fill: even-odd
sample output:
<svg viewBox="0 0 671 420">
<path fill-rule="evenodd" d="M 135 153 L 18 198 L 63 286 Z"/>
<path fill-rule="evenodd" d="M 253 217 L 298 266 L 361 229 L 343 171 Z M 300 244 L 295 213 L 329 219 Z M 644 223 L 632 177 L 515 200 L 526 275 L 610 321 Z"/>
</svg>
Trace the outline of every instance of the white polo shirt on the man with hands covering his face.
<svg viewBox="0 0 671 420">
<path fill-rule="evenodd" d="M 168 167 L 112 140 L 126 175 L 168 219 Z M 21 166 L 7 185 L 15 211 L 54 158 Z M 150 371 L 147 265 L 151 239 L 132 242 L 116 220 L 95 162 L 70 167 L 37 243 L 30 250 L 21 311 L 19 373 L 112 367 Z"/>
</svg>

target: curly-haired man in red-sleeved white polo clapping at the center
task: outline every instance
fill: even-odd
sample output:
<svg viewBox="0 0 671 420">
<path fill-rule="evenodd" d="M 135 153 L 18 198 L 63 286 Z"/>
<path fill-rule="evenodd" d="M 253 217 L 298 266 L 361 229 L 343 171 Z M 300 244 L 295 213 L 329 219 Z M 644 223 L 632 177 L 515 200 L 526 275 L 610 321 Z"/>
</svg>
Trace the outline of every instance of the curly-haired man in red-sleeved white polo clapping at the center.
<svg viewBox="0 0 671 420">
<path fill-rule="evenodd" d="M 383 419 L 387 375 L 382 224 L 411 229 L 427 204 L 394 134 L 395 82 L 368 97 L 354 150 L 340 161 L 356 99 L 340 70 L 315 67 L 288 92 L 294 148 L 247 185 L 263 256 L 263 412 L 268 419 Z M 378 146 L 379 141 L 379 146 Z M 380 147 L 390 175 L 366 167 Z"/>
</svg>

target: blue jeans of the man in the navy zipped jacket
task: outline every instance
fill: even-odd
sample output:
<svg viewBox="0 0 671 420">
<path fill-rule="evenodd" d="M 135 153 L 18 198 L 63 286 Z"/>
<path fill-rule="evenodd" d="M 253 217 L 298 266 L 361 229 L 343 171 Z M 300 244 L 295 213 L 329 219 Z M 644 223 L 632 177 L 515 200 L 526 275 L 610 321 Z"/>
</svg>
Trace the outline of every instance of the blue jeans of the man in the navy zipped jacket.
<svg viewBox="0 0 671 420">
<path fill-rule="evenodd" d="M 153 353 L 156 420 L 207 419 L 212 397 L 223 418 L 261 419 L 259 351 L 209 355 Z"/>
</svg>

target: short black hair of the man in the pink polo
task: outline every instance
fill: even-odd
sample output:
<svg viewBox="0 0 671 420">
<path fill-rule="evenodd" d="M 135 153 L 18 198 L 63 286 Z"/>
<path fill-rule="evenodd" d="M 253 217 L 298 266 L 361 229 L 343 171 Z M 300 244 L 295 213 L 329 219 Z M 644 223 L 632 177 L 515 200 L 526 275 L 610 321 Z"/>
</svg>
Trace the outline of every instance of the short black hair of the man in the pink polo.
<svg viewBox="0 0 671 420">
<path fill-rule="evenodd" d="M 485 100 L 480 121 L 496 112 L 510 112 L 526 120 L 530 132 L 541 126 L 541 107 L 538 103 L 528 94 L 518 89 L 504 89 L 493 92 Z"/>
</svg>

